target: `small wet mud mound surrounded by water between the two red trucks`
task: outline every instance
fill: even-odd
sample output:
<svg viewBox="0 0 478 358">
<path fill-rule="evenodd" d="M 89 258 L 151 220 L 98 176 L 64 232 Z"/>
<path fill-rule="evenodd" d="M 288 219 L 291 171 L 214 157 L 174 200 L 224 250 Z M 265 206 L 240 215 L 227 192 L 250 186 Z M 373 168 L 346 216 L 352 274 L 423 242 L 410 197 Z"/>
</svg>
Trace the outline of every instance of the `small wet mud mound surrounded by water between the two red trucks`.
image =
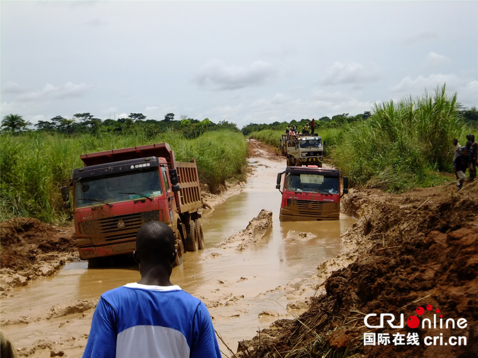
<svg viewBox="0 0 478 358">
<path fill-rule="evenodd" d="M 262 239 L 272 228 L 272 212 L 262 209 L 258 216 L 252 219 L 246 229 L 229 236 L 216 247 L 235 248 L 243 251 L 246 247 Z"/>
</svg>

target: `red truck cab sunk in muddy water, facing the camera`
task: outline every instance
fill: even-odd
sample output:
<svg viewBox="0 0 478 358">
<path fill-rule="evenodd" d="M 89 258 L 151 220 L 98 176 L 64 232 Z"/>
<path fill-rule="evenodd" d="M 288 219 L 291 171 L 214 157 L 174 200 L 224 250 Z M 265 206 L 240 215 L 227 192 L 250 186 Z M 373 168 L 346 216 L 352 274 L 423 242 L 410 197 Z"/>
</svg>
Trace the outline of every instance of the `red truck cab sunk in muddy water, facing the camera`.
<svg viewBox="0 0 478 358">
<path fill-rule="evenodd" d="M 288 166 L 277 174 L 276 189 L 279 191 L 283 175 L 281 221 L 339 219 L 340 198 L 348 193 L 348 178 L 341 178 L 339 170 Z"/>
</svg>

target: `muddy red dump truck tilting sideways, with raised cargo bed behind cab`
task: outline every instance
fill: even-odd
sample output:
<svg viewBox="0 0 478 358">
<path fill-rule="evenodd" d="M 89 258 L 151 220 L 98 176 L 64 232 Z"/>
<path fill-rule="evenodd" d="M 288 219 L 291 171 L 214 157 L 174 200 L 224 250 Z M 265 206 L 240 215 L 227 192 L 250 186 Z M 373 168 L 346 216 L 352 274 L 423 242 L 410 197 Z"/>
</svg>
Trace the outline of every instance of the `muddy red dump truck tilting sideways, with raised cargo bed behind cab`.
<svg viewBox="0 0 478 358">
<path fill-rule="evenodd" d="M 73 170 L 73 216 L 79 257 L 130 253 L 136 233 L 161 221 L 175 234 L 178 257 L 204 247 L 196 161 L 176 161 L 168 143 L 82 154 Z M 65 207 L 68 188 L 61 188 Z"/>
</svg>

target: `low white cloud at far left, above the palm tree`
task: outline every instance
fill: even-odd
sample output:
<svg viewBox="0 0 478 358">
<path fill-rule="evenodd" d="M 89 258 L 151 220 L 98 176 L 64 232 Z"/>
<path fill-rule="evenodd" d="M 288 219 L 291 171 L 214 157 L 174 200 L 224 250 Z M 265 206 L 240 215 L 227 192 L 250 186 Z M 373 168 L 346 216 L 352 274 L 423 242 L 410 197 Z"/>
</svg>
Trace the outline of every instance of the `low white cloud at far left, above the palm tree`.
<svg viewBox="0 0 478 358">
<path fill-rule="evenodd" d="M 92 86 L 86 83 L 74 84 L 67 82 L 61 86 L 54 86 L 53 84 L 47 83 L 41 91 L 24 93 L 18 96 L 17 100 L 20 102 L 31 102 L 47 99 L 78 98 L 85 96 L 90 88 L 92 88 Z"/>
</svg>

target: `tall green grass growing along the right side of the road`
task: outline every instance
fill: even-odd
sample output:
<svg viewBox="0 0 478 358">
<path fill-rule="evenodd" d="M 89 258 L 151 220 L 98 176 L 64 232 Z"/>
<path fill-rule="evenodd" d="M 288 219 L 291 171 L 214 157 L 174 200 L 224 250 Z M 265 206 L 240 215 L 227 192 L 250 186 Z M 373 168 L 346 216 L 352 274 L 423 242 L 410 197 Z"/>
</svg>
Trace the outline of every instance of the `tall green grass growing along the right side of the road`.
<svg viewBox="0 0 478 358">
<path fill-rule="evenodd" d="M 328 162 L 349 176 L 352 185 L 404 192 L 454 178 L 442 174 L 452 172 L 452 139 L 464 145 L 466 133 L 477 132 L 472 117 L 463 113 L 456 94 L 449 96 L 443 86 L 417 99 L 376 104 L 365 120 L 346 120 L 316 133 L 325 141 Z M 277 146 L 284 133 L 283 126 L 250 136 Z"/>
</svg>

